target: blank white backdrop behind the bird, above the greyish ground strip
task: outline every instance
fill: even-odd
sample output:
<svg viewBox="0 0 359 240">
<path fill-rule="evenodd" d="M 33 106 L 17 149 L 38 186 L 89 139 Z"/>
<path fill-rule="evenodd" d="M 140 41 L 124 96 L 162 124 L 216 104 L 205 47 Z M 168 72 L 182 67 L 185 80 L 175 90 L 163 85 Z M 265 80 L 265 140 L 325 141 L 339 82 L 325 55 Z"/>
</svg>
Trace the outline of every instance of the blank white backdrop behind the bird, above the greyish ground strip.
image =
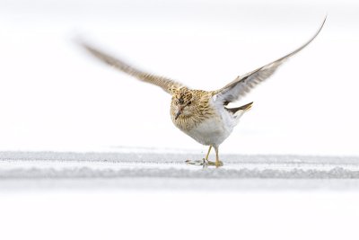
<svg viewBox="0 0 359 240">
<path fill-rule="evenodd" d="M 221 146 L 241 154 L 358 155 L 357 1 L 0 1 L 0 149 L 206 151 L 170 95 L 92 59 L 81 37 L 149 72 L 213 90 L 316 40 L 236 105 Z"/>
</svg>

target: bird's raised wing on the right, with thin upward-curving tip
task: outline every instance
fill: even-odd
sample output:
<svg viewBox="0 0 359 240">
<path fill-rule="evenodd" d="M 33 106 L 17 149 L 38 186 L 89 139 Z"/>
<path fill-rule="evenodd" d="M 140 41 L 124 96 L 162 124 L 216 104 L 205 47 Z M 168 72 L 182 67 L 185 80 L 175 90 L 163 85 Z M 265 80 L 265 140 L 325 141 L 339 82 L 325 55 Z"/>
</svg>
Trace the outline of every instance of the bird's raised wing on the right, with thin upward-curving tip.
<svg viewBox="0 0 359 240">
<path fill-rule="evenodd" d="M 315 37 L 318 36 L 321 29 L 323 28 L 324 22 L 326 22 L 327 17 L 324 19 L 323 23 L 321 23 L 320 29 L 315 33 L 315 35 L 308 40 L 301 48 L 294 50 L 288 55 L 285 55 L 283 58 L 279 58 L 274 62 L 267 64 L 266 66 L 259 67 L 256 70 L 244 75 L 238 76 L 234 79 L 230 84 L 223 86 L 223 88 L 214 92 L 215 102 L 223 102 L 223 104 L 227 104 L 228 102 L 234 102 L 239 100 L 246 93 L 249 93 L 252 88 L 254 88 L 257 84 L 263 82 L 268 77 L 272 76 L 276 72 L 276 68 L 281 66 L 285 60 L 292 57 L 294 54 L 304 49 L 308 44 L 311 43 Z"/>
</svg>

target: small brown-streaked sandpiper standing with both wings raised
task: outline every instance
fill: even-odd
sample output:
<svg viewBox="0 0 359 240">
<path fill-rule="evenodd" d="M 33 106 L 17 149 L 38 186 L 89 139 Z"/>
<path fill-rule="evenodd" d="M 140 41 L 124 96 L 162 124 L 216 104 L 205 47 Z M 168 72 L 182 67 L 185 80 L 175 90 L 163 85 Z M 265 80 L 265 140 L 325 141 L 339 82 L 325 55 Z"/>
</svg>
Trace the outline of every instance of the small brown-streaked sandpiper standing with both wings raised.
<svg viewBox="0 0 359 240">
<path fill-rule="evenodd" d="M 202 160 L 187 160 L 186 163 L 220 167 L 223 166 L 223 161 L 219 158 L 219 146 L 232 134 L 241 116 L 250 110 L 253 102 L 236 108 L 230 108 L 228 104 L 239 101 L 241 97 L 250 93 L 255 86 L 272 76 L 288 58 L 307 47 L 318 36 L 326 20 L 327 16 L 314 36 L 300 48 L 245 75 L 237 76 L 232 82 L 215 91 L 191 89 L 171 78 L 153 75 L 137 67 L 132 67 L 122 59 L 96 49 L 86 41 L 81 40 L 79 43 L 92 56 L 99 58 L 107 65 L 145 83 L 157 85 L 166 93 L 170 93 L 170 114 L 173 124 L 198 143 L 209 147 Z M 208 160 L 212 148 L 215 148 L 215 162 Z"/>
</svg>

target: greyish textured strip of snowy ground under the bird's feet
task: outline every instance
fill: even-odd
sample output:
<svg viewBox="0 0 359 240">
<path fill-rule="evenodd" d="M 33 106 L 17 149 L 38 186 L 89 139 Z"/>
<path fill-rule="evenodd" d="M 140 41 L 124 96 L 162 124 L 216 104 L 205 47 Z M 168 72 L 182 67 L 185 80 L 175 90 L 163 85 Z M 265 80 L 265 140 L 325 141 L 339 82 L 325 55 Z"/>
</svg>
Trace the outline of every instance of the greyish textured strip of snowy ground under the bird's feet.
<svg viewBox="0 0 359 240">
<path fill-rule="evenodd" d="M 223 155 L 221 168 L 183 153 L 0 152 L 0 189 L 359 190 L 359 157 Z"/>
</svg>

